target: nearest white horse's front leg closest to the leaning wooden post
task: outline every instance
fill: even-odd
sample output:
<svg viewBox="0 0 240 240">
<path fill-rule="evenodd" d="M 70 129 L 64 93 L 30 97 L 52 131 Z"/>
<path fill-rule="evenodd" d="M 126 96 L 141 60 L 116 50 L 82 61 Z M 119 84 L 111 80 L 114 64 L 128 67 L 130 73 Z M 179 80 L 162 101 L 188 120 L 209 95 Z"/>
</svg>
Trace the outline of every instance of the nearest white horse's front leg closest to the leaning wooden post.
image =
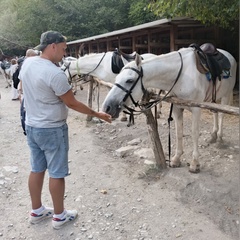
<svg viewBox="0 0 240 240">
<path fill-rule="evenodd" d="M 183 154 L 183 109 L 173 105 L 173 118 L 176 128 L 176 151 L 174 157 L 171 159 L 171 167 L 180 167 L 180 157 Z"/>
</svg>

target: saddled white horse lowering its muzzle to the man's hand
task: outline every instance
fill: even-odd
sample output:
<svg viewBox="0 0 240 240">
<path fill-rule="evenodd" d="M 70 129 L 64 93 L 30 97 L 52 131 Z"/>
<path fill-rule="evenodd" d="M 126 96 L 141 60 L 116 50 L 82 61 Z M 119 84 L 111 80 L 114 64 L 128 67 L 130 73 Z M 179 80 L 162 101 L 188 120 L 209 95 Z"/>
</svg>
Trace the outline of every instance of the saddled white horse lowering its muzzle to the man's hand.
<svg viewBox="0 0 240 240">
<path fill-rule="evenodd" d="M 229 104 L 235 85 L 237 64 L 230 53 L 220 49 L 218 51 L 228 58 L 231 69 L 228 77 L 222 77 L 221 81 L 216 80 L 216 99 L 221 99 L 221 104 Z M 102 110 L 113 117 L 118 117 L 124 105 L 131 104 L 131 99 L 135 102 L 140 100 L 146 88 L 171 90 L 169 96 L 197 102 L 211 101 L 212 90 L 214 90 L 213 82 L 207 79 L 206 74 L 197 70 L 195 50 L 192 47 L 182 48 L 179 51 L 144 61 L 137 56 L 135 61 L 128 63 L 122 69 L 116 77 L 115 84 L 102 106 Z M 190 162 L 189 171 L 197 173 L 200 171 L 198 138 L 201 108 L 189 107 L 187 109 L 192 112 L 193 141 L 193 159 Z M 221 140 L 223 134 L 223 113 L 219 113 L 219 121 L 217 115 L 217 113 L 214 114 L 212 142 L 216 141 L 217 137 Z M 176 152 L 171 159 L 171 166 L 179 167 L 180 157 L 183 154 L 182 106 L 173 106 L 173 118 L 176 126 Z"/>
</svg>

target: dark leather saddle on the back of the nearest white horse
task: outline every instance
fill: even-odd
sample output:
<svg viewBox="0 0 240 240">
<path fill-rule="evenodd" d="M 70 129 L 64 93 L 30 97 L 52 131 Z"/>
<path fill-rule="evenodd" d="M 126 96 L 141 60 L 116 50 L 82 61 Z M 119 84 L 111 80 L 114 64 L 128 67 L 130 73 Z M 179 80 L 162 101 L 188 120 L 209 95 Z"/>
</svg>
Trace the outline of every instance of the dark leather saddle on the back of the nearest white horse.
<svg viewBox="0 0 240 240">
<path fill-rule="evenodd" d="M 206 74 L 209 81 L 213 82 L 212 102 L 216 102 L 216 81 L 230 76 L 231 64 L 228 58 L 219 52 L 211 43 L 204 43 L 200 47 L 193 43 L 189 47 L 195 49 L 197 69 L 200 73 Z"/>
</svg>

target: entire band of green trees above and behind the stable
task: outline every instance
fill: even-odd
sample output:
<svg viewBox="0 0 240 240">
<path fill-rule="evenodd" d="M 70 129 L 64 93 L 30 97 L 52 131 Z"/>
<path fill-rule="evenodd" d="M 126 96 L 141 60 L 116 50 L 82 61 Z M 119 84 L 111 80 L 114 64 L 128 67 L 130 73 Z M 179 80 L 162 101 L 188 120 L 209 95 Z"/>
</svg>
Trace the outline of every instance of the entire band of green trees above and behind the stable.
<svg viewBox="0 0 240 240">
<path fill-rule="evenodd" d="M 190 16 L 205 24 L 230 26 L 238 19 L 237 0 L 0 0 L 0 48 L 24 53 L 55 30 L 68 41 L 150 22 Z"/>
</svg>

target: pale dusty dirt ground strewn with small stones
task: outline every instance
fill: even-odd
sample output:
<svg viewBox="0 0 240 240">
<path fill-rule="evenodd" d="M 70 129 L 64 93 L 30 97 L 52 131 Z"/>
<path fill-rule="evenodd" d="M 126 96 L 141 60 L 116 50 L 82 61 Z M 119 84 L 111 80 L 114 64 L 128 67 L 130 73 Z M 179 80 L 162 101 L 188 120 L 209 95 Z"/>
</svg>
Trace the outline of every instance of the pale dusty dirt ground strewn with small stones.
<svg viewBox="0 0 240 240">
<path fill-rule="evenodd" d="M 30 225 L 27 181 L 29 150 L 22 133 L 19 101 L 11 100 L 0 76 L 0 239 L 27 240 L 237 240 L 239 239 L 239 118 L 226 116 L 224 142 L 209 145 L 212 116 L 203 111 L 200 128 L 201 172 L 188 172 L 191 159 L 191 114 L 184 115 L 182 166 L 157 171 L 148 151 L 151 143 L 145 116 L 135 125 L 86 122 L 69 111 L 69 166 L 65 204 L 77 209 L 78 219 L 61 230 L 51 220 Z M 101 98 L 106 89 L 101 92 Z M 86 103 L 87 87 L 76 97 Z M 238 106 L 238 95 L 234 105 Z M 94 102 L 94 108 L 96 102 Z M 160 139 L 167 152 L 169 104 L 163 103 L 158 120 Z M 175 147 L 171 125 L 172 152 Z M 121 147 L 136 145 L 119 156 Z M 135 147 L 135 149 L 134 149 Z M 144 153 L 142 153 L 145 150 Z M 136 154 L 138 152 L 138 155 Z M 139 155 L 140 154 L 140 155 Z M 167 156 L 167 155 L 166 155 Z M 43 203 L 51 205 L 48 176 Z"/>
</svg>

